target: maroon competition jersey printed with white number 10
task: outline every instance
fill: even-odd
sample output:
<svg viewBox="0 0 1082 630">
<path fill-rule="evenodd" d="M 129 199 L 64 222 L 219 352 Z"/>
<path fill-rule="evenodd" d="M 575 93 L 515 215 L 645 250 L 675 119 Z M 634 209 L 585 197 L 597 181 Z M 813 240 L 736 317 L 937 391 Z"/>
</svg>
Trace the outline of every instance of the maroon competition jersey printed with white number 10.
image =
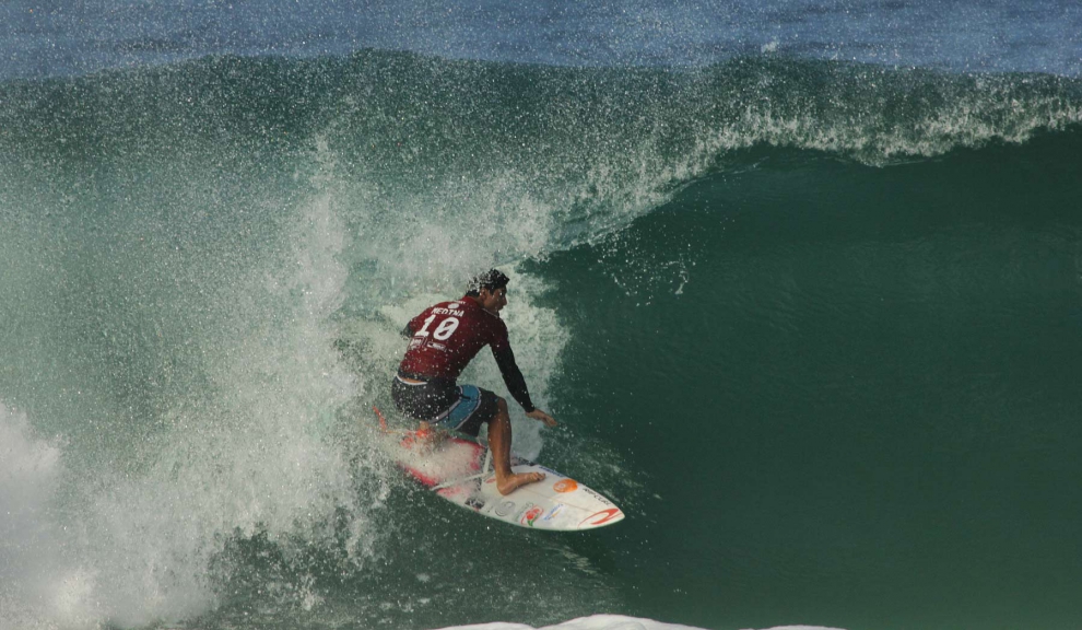
<svg viewBox="0 0 1082 630">
<path fill-rule="evenodd" d="M 503 319 L 471 298 L 430 306 L 410 320 L 409 330 L 413 336 L 399 370 L 426 378 L 457 381 L 485 346 L 496 357 L 510 350 Z"/>
</svg>

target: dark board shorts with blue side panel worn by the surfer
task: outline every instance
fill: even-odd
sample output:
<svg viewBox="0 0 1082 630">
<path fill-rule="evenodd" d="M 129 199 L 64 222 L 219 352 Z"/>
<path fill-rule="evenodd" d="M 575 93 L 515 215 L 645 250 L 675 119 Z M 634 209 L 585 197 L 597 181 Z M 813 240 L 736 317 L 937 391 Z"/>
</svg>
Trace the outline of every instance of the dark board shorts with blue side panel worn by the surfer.
<svg viewBox="0 0 1082 630">
<path fill-rule="evenodd" d="M 421 381 L 412 374 L 408 378 Z M 391 382 L 391 398 L 402 413 L 414 420 L 478 436 L 481 425 L 496 417 L 498 397 L 475 385 L 456 385 L 443 378 L 407 383 L 402 375 Z"/>
</svg>

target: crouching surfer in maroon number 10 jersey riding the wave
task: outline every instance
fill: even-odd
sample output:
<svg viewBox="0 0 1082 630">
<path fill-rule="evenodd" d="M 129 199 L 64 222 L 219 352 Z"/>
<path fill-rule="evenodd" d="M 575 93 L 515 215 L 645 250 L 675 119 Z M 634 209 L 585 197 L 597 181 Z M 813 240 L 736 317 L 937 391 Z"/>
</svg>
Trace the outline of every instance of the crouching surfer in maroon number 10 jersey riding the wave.
<svg viewBox="0 0 1082 630">
<path fill-rule="evenodd" d="M 533 406 L 522 372 L 515 363 L 507 326 L 499 311 L 507 305 L 509 279 L 497 269 L 474 276 L 460 300 L 430 306 L 405 325 L 410 337 L 405 358 L 391 383 L 399 411 L 430 425 L 454 429 L 474 438 L 489 425 L 489 447 L 496 472 L 496 489 L 508 494 L 516 488 L 544 479 L 541 472 L 511 472 L 510 415 L 507 401 L 474 385 L 458 385 L 458 376 L 485 346 L 491 347 L 504 383 L 526 415 L 555 427 L 556 421 Z"/>
</svg>

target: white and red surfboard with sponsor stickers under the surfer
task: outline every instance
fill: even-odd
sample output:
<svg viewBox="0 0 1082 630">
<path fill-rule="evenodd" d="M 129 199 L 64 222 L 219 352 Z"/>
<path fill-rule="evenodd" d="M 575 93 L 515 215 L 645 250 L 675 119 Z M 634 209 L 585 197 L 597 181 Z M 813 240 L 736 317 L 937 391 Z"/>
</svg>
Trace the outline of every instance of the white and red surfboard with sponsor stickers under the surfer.
<svg viewBox="0 0 1082 630">
<path fill-rule="evenodd" d="M 528 459 L 513 455 L 511 470 L 543 472 L 545 478 L 504 495 L 496 490 L 489 450 L 481 444 L 450 436 L 425 442 L 416 439 L 415 431 L 390 435 L 391 457 L 407 474 L 439 497 L 483 516 L 558 532 L 592 529 L 624 520 L 620 508 L 601 493 Z"/>
</svg>

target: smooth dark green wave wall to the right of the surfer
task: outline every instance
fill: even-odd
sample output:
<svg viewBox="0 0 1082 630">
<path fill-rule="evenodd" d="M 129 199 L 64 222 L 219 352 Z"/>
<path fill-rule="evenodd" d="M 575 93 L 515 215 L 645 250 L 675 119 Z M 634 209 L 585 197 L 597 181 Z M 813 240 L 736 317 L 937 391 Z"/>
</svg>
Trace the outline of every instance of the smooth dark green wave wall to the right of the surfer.
<svg viewBox="0 0 1082 630">
<path fill-rule="evenodd" d="M 889 168 L 755 152 L 539 265 L 580 331 L 565 418 L 659 495 L 618 572 L 638 614 L 1079 619 L 1078 142 Z"/>
</svg>

